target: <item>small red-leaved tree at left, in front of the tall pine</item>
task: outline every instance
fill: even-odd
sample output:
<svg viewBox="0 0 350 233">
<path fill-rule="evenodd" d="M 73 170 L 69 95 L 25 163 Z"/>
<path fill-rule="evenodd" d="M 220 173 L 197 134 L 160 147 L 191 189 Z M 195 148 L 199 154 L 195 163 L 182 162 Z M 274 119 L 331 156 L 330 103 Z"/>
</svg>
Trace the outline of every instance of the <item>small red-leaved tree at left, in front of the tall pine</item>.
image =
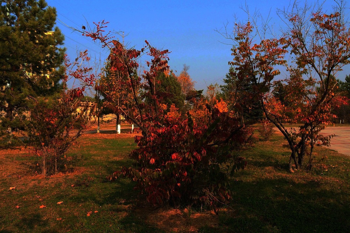
<svg viewBox="0 0 350 233">
<path fill-rule="evenodd" d="M 87 51 L 80 52 L 73 63 L 65 59 L 61 93 L 58 98 L 32 97 L 30 119 L 25 123 L 29 151 L 36 155 L 37 165 L 44 176 L 68 168 L 65 152 L 89 126 L 94 115 L 94 104 L 84 100 L 86 86 L 92 86 L 96 77 Z M 83 86 L 68 88 L 67 82 L 76 79 Z"/>
</svg>

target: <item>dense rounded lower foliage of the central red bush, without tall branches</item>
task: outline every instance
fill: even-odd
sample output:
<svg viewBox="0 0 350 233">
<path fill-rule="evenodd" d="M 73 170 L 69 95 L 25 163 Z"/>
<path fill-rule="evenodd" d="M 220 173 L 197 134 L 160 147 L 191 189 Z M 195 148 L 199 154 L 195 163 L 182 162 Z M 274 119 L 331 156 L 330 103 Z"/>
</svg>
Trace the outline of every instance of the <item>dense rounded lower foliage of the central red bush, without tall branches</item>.
<svg viewBox="0 0 350 233">
<path fill-rule="evenodd" d="M 165 117 L 149 129 L 149 136 L 135 137 L 139 147 L 131 153 L 135 166 L 124 167 L 110 179 L 131 178 L 154 205 L 202 202 L 215 208 L 230 200 L 229 176 L 246 165 L 233 151 L 252 131 L 216 108 L 205 130 L 187 116 Z"/>
</svg>

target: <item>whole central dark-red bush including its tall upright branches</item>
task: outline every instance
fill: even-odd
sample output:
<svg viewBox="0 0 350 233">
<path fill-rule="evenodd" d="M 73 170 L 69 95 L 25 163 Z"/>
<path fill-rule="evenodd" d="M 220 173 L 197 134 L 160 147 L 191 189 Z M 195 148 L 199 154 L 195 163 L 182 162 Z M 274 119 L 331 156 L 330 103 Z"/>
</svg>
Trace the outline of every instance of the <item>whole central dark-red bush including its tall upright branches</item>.
<svg viewBox="0 0 350 233">
<path fill-rule="evenodd" d="M 110 179 L 129 177 L 154 205 L 205 203 L 216 211 L 217 204 L 231 199 L 228 177 L 246 165 L 244 158 L 233 151 L 249 141 L 252 130 L 241 124 L 230 109 L 215 105 L 202 105 L 206 113 L 203 121 L 194 121 L 190 112 L 179 116 L 174 105 L 165 111 L 164 96 L 157 87 L 161 84 L 159 74 L 169 70 L 169 51 L 158 50 L 147 41 L 140 50 L 126 49 L 104 34 L 104 27 L 104 22 L 97 23 L 95 31 L 84 35 L 109 48 L 111 69 L 127 77 L 138 116 L 120 105 L 115 104 L 115 108 L 142 131 L 142 136 L 135 137 L 138 148 L 131 153 L 135 165 L 122 168 Z M 146 60 L 148 68 L 134 79 L 132 69 L 139 67 L 138 58 L 144 53 L 151 57 Z M 140 95 L 136 87 L 143 90 Z"/>
</svg>

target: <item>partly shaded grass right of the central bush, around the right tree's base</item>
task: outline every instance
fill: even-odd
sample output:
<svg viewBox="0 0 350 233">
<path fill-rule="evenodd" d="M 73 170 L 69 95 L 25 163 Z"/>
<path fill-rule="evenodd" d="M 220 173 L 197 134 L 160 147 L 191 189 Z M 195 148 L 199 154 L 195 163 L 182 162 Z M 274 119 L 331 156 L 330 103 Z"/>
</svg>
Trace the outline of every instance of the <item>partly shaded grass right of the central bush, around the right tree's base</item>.
<svg viewBox="0 0 350 233">
<path fill-rule="evenodd" d="M 233 182 L 235 211 L 222 217 L 224 225 L 237 232 L 349 232 L 349 157 L 317 148 L 318 161 L 328 156 L 328 170 L 317 163 L 290 174 L 281 142 L 274 136 L 243 153 L 248 166 Z"/>
</svg>

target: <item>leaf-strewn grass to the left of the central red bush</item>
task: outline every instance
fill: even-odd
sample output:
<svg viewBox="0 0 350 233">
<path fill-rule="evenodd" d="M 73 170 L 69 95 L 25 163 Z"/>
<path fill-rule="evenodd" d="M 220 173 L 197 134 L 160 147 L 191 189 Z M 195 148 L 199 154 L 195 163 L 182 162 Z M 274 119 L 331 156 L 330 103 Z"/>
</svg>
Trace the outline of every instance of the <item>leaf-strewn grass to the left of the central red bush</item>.
<svg viewBox="0 0 350 233">
<path fill-rule="evenodd" d="M 132 138 L 80 140 L 75 175 L 1 177 L 0 232 L 146 232 L 154 230 L 133 217 L 138 192 L 129 180 L 105 182 L 105 176 L 130 165 Z M 23 161 L 27 156 L 15 156 Z M 118 158 L 118 160 L 116 160 Z M 21 174 L 22 176 L 24 174 Z M 23 184 L 22 184 L 23 183 Z M 72 187 L 73 185 L 73 187 Z M 9 190 L 9 187 L 16 187 Z M 39 197 L 40 196 L 40 197 Z M 39 201 L 42 199 L 42 201 Z M 120 204 L 121 200 L 125 200 Z M 63 201 L 61 205 L 57 202 Z M 20 208 L 16 209 L 15 206 Z M 40 209 L 40 205 L 46 207 Z M 90 216 L 87 213 L 92 211 Z M 94 213 L 94 211 L 98 211 Z M 57 220 L 59 219 L 59 220 Z"/>
</svg>

